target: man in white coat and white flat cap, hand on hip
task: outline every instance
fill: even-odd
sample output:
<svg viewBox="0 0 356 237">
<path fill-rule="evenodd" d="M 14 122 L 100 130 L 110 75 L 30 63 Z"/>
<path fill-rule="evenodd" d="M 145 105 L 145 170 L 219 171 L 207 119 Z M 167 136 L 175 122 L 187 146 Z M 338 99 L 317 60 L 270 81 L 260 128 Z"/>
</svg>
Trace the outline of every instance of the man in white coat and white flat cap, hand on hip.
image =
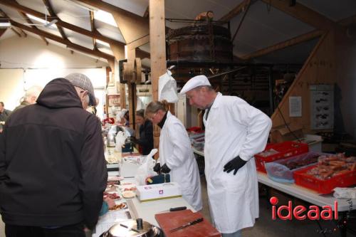
<svg viewBox="0 0 356 237">
<path fill-rule="evenodd" d="M 271 119 L 241 98 L 216 93 L 205 75 L 182 88 L 190 105 L 205 110 L 205 176 L 211 217 L 223 236 L 241 236 L 258 218 L 253 155 L 266 147 Z"/>
</svg>

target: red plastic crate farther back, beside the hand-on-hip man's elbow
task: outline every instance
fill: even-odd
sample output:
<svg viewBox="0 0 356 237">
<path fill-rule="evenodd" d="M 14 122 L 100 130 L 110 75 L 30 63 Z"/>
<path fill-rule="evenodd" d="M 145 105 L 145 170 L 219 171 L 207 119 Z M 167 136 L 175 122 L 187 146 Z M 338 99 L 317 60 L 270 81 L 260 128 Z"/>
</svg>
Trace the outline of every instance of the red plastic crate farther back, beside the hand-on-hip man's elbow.
<svg viewBox="0 0 356 237">
<path fill-rule="evenodd" d="M 273 154 L 264 156 L 263 153 L 273 150 Z M 292 157 L 297 154 L 303 154 L 309 151 L 308 144 L 302 142 L 281 142 L 276 144 L 267 144 L 263 152 L 255 154 L 256 169 L 260 172 L 265 172 L 265 163 L 274 162 L 278 159 Z"/>
</svg>

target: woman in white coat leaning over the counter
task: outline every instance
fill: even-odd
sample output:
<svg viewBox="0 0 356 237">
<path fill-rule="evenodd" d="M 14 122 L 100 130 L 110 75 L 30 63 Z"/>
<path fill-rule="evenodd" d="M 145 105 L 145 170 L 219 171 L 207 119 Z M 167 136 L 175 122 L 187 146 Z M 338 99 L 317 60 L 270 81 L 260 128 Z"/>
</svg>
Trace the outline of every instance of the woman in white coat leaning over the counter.
<svg viewBox="0 0 356 237">
<path fill-rule="evenodd" d="M 146 116 L 161 128 L 159 162 L 155 172 L 169 173 L 177 182 L 183 198 L 196 210 L 203 207 L 197 161 L 184 125 L 168 111 L 167 101 L 153 101 L 147 105 Z M 160 165 L 162 164 L 162 166 Z"/>
</svg>

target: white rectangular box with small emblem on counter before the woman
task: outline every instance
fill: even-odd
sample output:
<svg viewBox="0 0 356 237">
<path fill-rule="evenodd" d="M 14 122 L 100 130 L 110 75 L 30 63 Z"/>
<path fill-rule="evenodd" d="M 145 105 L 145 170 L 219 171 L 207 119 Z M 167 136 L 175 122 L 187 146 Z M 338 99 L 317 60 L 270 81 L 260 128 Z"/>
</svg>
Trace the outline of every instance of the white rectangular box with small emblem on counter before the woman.
<svg viewBox="0 0 356 237">
<path fill-rule="evenodd" d="M 173 199 L 182 196 L 179 184 L 175 182 L 137 186 L 137 198 L 144 201 Z"/>
</svg>

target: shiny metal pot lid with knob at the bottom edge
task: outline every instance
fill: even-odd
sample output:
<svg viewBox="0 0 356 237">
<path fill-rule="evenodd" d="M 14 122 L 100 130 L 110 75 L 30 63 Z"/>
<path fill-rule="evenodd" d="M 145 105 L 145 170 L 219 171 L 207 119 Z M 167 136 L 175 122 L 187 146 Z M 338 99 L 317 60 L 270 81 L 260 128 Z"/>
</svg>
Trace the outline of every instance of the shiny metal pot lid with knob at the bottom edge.
<svg viewBox="0 0 356 237">
<path fill-rule="evenodd" d="M 142 229 L 137 228 L 136 221 L 122 221 L 111 226 L 108 233 L 112 237 L 138 237 L 148 236 L 150 231 L 152 231 L 152 225 L 147 221 L 142 221 Z"/>
</svg>

